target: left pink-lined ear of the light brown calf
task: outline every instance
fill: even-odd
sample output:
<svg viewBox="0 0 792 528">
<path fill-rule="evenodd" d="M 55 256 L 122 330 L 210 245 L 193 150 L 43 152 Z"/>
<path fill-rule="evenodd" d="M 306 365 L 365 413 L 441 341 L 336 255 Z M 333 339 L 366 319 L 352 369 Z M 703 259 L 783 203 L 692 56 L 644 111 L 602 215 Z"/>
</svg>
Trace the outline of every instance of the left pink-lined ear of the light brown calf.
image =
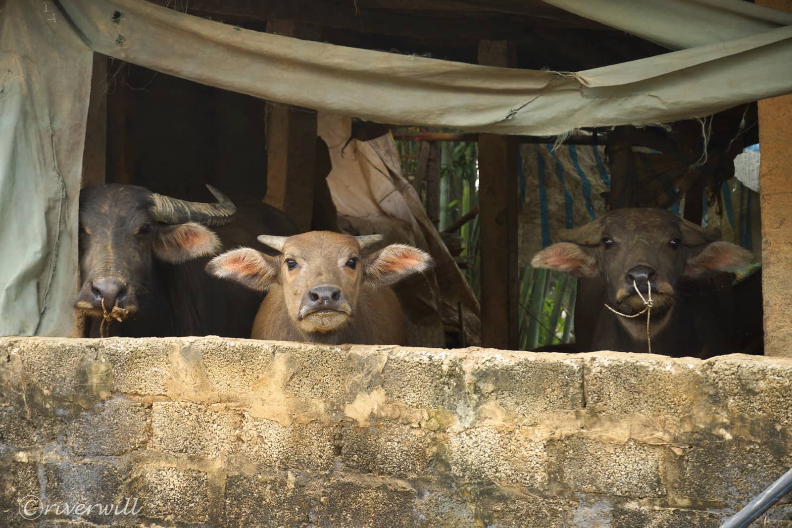
<svg viewBox="0 0 792 528">
<path fill-rule="evenodd" d="M 250 248 L 232 249 L 215 256 L 206 265 L 206 271 L 254 291 L 267 291 L 278 279 L 276 258 Z"/>
</svg>

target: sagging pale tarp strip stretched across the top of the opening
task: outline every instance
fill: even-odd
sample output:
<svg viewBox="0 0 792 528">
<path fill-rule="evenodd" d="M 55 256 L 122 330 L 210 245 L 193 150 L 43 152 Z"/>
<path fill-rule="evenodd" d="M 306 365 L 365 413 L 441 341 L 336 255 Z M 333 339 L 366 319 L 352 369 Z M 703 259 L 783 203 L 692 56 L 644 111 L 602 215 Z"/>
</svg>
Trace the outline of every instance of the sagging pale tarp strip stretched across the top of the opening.
<svg viewBox="0 0 792 528">
<path fill-rule="evenodd" d="M 591 2 L 611 3 L 623 2 Z M 95 51 L 219 88 L 380 123 L 552 135 L 581 126 L 706 116 L 792 92 L 792 25 L 784 25 L 782 17 L 779 22 L 749 17 L 752 9 L 731 13 L 754 21 L 762 31 L 565 73 L 310 42 L 223 25 L 142 0 L 60 4 Z M 715 6 L 709 9 L 718 12 Z M 629 31 L 634 13 L 630 6 L 611 9 L 613 24 Z M 653 21 L 663 26 L 664 10 L 655 14 Z M 703 24 L 713 27 L 706 20 Z"/>
</svg>

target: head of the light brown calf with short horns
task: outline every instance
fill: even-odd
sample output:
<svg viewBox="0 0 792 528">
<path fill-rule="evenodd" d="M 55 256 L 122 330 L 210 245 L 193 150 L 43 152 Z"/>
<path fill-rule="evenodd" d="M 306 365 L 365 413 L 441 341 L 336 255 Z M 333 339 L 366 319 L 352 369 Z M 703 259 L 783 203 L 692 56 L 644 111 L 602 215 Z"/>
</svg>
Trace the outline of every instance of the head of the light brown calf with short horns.
<svg viewBox="0 0 792 528">
<path fill-rule="evenodd" d="M 367 254 L 379 235 L 352 237 L 312 231 L 292 237 L 258 237 L 277 256 L 234 249 L 216 256 L 208 272 L 257 291 L 278 285 L 293 324 L 307 333 L 335 332 L 355 317 L 362 288 L 375 290 L 428 268 L 431 257 L 409 245 L 393 244 Z M 270 292 L 280 294 L 280 292 Z"/>
</svg>

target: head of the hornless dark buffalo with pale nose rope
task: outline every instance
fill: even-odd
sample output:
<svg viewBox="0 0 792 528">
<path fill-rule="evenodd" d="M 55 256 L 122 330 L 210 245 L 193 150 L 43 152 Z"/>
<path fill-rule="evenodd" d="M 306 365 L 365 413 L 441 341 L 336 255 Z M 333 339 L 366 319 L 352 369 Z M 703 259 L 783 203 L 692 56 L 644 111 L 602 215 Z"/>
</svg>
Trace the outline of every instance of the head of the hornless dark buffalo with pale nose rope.
<svg viewBox="0 0 792 528">
<path fill-rule="evenodd" d="M 719 230 L 703 229 L 663 209 L 618 209 L 559 237 L 562 242 L 536 253 L 534 268 L 600 279 L 603 301 L 628 315 L 643 310 L 638 291 L 646 298 L 651 288 L 658 329 L 668 321 L 664 315 L 672 310 L 680 280 L 734 271 L 753 260 L 745 249 L 718 241 Z M 619 321 L 640 332 L 642 323 Z"/>
</svg>

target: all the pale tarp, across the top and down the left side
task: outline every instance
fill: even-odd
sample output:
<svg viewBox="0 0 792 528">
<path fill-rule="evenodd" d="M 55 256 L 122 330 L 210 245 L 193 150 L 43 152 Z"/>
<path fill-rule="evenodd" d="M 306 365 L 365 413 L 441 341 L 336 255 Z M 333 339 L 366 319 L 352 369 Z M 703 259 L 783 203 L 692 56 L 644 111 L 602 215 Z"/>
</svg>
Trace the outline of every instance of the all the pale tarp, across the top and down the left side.
<svg viewBox="0 0 792 528">
<path fill-rule="evenodd" d="M 504 134 L 667 122 L 792 92 L 788 14 L 672 2 L 548 0 L 679 50 L 577 73 L 308 42 L 143 0 L 0 2 L 0 334 L 67 333 L 93 51 L 271 101 Z"/>
</svg>

